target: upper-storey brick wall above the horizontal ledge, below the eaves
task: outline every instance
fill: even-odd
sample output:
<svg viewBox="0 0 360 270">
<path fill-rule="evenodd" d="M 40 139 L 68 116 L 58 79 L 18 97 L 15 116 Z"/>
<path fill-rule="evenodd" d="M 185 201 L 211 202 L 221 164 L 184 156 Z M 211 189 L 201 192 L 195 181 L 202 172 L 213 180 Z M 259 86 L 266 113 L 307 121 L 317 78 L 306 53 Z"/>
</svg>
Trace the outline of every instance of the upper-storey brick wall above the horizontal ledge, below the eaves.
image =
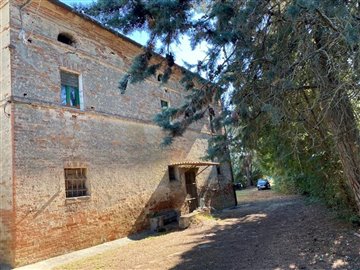
<svg viewBox="0 0 360 270">
<path fill-rule="evenodd" d="M 21 73 L 14 74 L 18 79 L 13 91 L 15 96 L 26 95 L 27 99 L 60 104 L 60 69 L 66 68 L 81 74 L 86 92 L 85 110 L 151 121 L 160 111 L 160 99 L 169 101 L 172 106 L 179 105 L 184 93 L 178 90 L 180 85 L 176 80 L 160 86 L 154 77 L 129 85 L 125 95 L 120 93 L 119 80 L 132 58 L 141 52 L 140 47 L 49 1 L 31 3 L 22 10 L 22 23 L 18 7 L 12 8 L 12 38 L 17 52 L 13 69 L 22 68 Z M 38 4 L 41 4 L 39 9 Z M 31 43 L 19 40 L 21 25 L 26 40 Z M 58 42 L 60 32 L 71 34 L 76 45 Z M 33 76 L 34 72 L 37 76 Z M 206 119 L 200 121 L 196 128 L 201 129 L 206 122 Z"/>
</svg>

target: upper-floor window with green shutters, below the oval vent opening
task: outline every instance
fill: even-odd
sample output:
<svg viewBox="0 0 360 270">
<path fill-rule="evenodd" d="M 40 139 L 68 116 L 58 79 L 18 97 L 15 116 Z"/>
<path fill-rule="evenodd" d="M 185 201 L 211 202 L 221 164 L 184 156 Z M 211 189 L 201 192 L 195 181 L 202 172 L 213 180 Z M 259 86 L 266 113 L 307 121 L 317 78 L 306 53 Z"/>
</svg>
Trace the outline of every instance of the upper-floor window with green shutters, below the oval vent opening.
<svg viewBox="0 0 360 270">
<path fill-rule="evenodd" d="M 80 109 L 79 75 L 60 71 L 61 105 Z"/>
</svg>

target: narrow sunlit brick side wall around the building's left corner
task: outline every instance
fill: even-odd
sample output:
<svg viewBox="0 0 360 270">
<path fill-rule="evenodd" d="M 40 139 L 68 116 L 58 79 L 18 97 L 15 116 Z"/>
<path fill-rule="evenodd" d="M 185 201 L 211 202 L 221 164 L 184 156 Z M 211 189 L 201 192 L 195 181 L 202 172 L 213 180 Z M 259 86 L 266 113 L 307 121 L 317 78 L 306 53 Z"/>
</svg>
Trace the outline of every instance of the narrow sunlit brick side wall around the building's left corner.
<svg viewBox="0 0 360 270">
<path fill-rule="evenodd" d="M 12 263 L 13 188 L 10 97 L 9 4 L 0 1 L 0 267 Z"/>
</svg>

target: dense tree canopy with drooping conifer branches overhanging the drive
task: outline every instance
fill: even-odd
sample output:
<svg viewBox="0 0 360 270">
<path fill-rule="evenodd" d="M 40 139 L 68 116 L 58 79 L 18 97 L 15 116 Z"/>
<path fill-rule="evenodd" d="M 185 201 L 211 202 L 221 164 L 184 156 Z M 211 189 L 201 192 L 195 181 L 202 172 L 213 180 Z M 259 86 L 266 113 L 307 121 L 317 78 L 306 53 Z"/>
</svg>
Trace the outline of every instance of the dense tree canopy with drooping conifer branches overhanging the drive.
<svg viewBox="0 0 360 270">
<path fill-rule="evenodd" d="M 193 47 L 208 44 L 206 57 L 182 78 L 186 103 L 156 118 L 167 142 L 226 93 L 228 103 L 213 121 L 229 136 L 211 140 L 213 153 L 224 145 L 256 150 L 298 187 L 323 179 L 349 189 L 360 214 L 358 1 L 98 0 L 86 12 L 124 33 L 150 34 L 122 90 L 160 68 L 150 64 L 152 51 L 165 56 L 166 82 L 176 58 L 172 44 L 184 35 Z M 201 86 L 194 83 L 202 77 Z"/>
</svg>

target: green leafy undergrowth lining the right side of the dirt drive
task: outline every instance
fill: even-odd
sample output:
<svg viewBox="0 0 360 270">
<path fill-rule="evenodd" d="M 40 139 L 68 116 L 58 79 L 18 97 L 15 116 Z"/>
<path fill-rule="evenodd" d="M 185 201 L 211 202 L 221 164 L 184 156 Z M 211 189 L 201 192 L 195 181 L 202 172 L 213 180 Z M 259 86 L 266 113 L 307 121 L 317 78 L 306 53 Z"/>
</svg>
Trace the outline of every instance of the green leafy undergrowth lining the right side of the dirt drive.
<svg viewBox="0 0 360 270">
<path fill-rule="evenodd" d="M 273 125 L 268 121 L 254 125 L 251 127 L 249 124 L 246 129 L 254 128 L 256 136 L 251 133 L 252 136 L 247 137 L 243 129 L 237 131 L 237 141 L 246 141 L 252 152 L 243 149 L 242 154 L 234 159 L 237 160 L 236 180 L 249 185 L 244 165 L 251 153 L 250 178 L 253 181 L 265 175 L 271 176 L 273 188 L 277 191 L 321 201 L 342 218 L 359 224 L 356 203 L 346 183 L 334 141 L 331 136 L 325 138 L 323 127 L 319 126 L 317 133 L 310 134 L 304 122 Z M 236 136 L 236 130 L 232 135 Z"/>
</svg>

